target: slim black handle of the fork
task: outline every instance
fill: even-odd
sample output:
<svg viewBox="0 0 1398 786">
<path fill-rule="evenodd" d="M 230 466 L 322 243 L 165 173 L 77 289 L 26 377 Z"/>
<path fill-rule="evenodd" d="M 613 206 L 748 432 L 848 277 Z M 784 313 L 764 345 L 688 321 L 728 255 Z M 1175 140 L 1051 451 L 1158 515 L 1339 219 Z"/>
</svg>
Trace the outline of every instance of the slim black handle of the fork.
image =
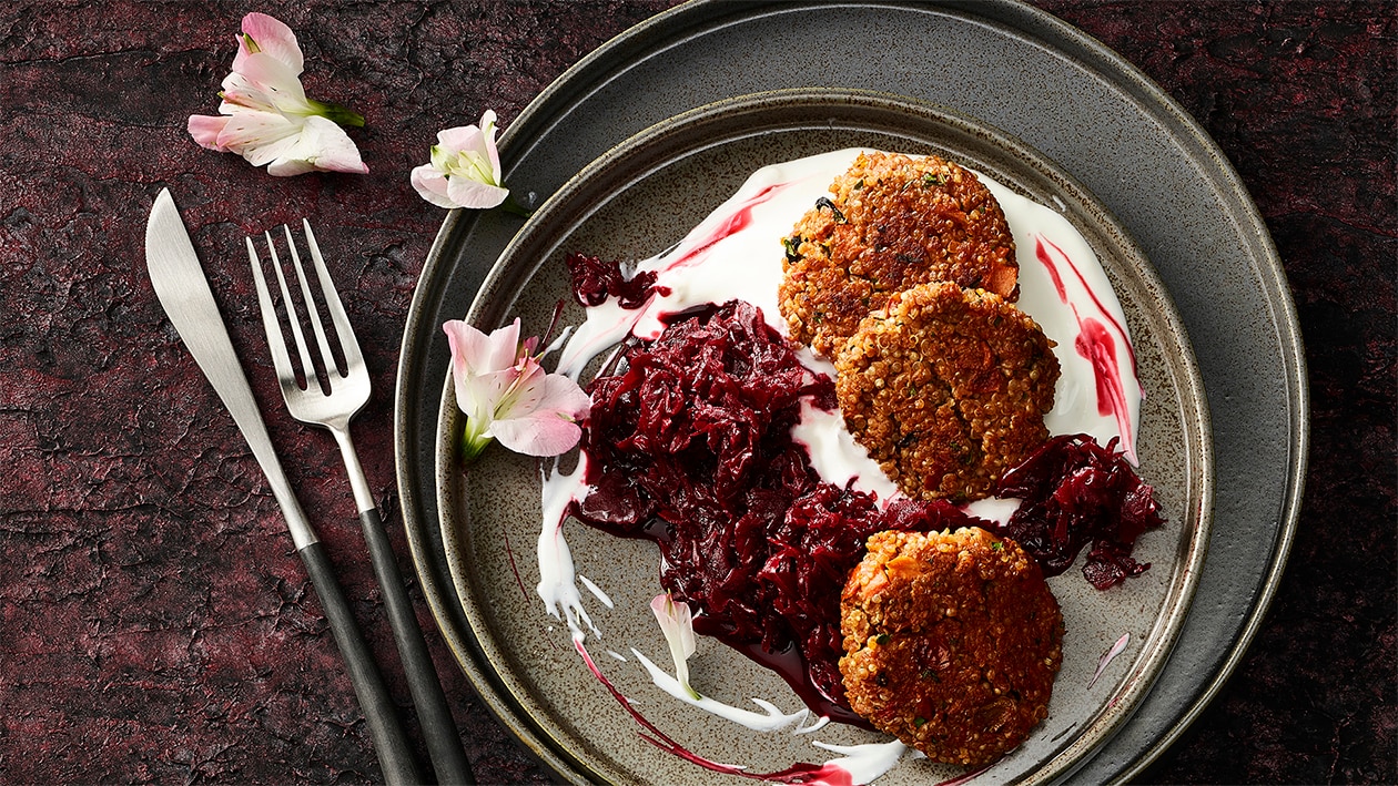
<svg viewBox="0 0 1398 786">
<path fill-rule="evenodd" d="M 432 663 L 432 655 L 428 653 L 428 644 L 422 638 L 422 628 L 418 627 L 417 613 L 412 610 L 412 602 L 408 600 L 407 589 L 404 589 L 403 572 L 398 570 L 398 560 L 389 543 L 389 533 L 383 529 L 379 510 L 359 511 L 359 524 L 363 525 L 369 561 L 373 564 L 373 574 L 383 592 L 383 606 L 389 611 L 393 638 L 398 644 L 403 672 L 408 677 L 408 690 L 412 691 L 412 702 L 418 708 L 418 722 L 422 725 L 422 737 L 432 755 L 432 769 L 436 772 L 438 783 L 475 783 L 471 764 L 466 758 L 466 751 L 461 750 L 461 737 L 457 733 L 452 711 L 447 708 L 436 666 Z"/>
</svg>

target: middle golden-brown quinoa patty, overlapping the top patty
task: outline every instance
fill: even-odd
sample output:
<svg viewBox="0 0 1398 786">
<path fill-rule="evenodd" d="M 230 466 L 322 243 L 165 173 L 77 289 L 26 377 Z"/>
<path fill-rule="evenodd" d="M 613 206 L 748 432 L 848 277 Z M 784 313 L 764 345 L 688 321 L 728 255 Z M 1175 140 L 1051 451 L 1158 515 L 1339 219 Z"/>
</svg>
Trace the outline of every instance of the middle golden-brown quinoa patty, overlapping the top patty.
<svg viewBox="0 0 1398 786">
<path fill-rule="evenodd" d="M 850 433 L 905 494 L 977 500 L 1048 438 L 1051 348 L 1000 296 L 924 283 L 860 324 L 835 391 Z"/>
</svg>

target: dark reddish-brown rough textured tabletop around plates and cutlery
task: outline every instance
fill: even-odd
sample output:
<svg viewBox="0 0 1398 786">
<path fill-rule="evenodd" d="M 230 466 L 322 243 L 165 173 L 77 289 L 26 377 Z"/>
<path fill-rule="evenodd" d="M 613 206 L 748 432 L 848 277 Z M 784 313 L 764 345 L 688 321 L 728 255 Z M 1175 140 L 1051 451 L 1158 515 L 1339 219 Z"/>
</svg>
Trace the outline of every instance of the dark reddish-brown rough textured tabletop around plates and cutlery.
<svg viewBox="0 0 1398 786">
<path fill-rule="evenodd" d="M 377 779 L 266 483 L 151 293 L 151 198 L 175 191 L 292 483 L 387 648 L 329 437 L 271 406 L 240 236 L 301 215 L 323 228 L 375 374 L 356 440 L 407 554 L 391 390 L 443 216 L 407 173 L 439 128 L 487 107 L 507 126 L 670 4 L 0 4 L 0 782 Z M 1149 779 L 1394 782 L 1398 6 L 1037 4 L 1213 135 L 1267 219 L 1307 345 L 1313 443 L 1286 575 L 1237 673 Z M 352 135 L 370 176 L 274 179 L 189 140 L 253 10 L 298 32 L 309 95 L 368 117 Z M 421 598 L 419 616 L 431 627 Z M 429 639 L 482 780 L 547 780 Z"/>
</svg>

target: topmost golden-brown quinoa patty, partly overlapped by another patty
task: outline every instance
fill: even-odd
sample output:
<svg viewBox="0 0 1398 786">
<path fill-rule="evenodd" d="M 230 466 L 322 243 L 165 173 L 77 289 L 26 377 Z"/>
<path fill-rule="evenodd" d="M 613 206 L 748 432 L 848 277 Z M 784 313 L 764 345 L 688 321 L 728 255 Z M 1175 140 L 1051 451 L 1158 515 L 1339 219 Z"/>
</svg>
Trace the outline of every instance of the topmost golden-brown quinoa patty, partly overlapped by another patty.
<svg viewBox="0 0 1398 786">
<path fill-rule="evenodd" d="M 1019 296 L 1005 214 L 974 175 L 937 156 L 860 154 L 783 240 L 777 304 L 791 338 L 835 357 L 888 296 L 930 281 Z"/>
</svg>

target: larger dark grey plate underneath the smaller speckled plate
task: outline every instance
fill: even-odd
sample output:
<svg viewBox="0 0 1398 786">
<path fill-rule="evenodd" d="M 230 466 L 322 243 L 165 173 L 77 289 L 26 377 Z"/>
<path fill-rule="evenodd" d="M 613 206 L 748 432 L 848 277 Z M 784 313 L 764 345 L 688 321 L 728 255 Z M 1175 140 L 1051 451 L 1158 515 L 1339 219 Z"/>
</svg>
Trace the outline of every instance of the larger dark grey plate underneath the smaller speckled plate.
<svg viewBox="0 0 1398 786">
<path fill-rule="evenodd" d="M 819 46 L 811 46 L 819 42 Z M 937 57 L 928 57 L 937 52 Z M 1216 145 L 1121 57 L 1011 0 L 691 3 L 584 59 L 506 128 L 516 193 L 552 194 L 587 162 L 665 117 L 787 87 L 895 92 L 980 117 L 1048 155 L 1145 249 L 1194 339 L 1213 415 L 1212 549 L 1176 651 L 1137 715 L 1075 779 L 1131 778 L 1237 665 L 1272 598 L 1296 526 L 1309 427 L 1295 307 L 1255 205 Z M 516 719 L 481 669 L 446 564 L 432 462 L 446 342 L 519 229 L 453 212 L 408 314 L 396 391 L 398 487 L 432 611 L 482 699 L 545 762 L 576 762 Z M 526 547 L 524 551 L 528 549 Z"/>
</svg>

